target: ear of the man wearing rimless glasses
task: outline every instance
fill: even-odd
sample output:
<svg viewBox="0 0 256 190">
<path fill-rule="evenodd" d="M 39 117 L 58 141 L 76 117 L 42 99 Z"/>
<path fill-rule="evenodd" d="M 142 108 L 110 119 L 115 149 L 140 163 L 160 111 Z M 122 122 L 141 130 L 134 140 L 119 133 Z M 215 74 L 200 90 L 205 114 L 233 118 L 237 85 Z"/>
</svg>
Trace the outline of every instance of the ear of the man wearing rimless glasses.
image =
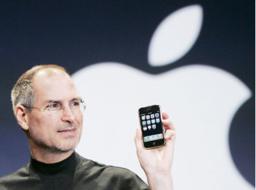
<svg viewBox="0 0 256 190">
<path fill-rule="evenodd" d="M 22 105 L 17 105 L 14 108 L 14 115 L 17 119 L 17 122 L 19 123 L 19 126 L 23 130 L 29 129 L 28 114 L 29 114 L 29 111 L 27 111 L 26 107 L 24 107 Z"/>
</svg>

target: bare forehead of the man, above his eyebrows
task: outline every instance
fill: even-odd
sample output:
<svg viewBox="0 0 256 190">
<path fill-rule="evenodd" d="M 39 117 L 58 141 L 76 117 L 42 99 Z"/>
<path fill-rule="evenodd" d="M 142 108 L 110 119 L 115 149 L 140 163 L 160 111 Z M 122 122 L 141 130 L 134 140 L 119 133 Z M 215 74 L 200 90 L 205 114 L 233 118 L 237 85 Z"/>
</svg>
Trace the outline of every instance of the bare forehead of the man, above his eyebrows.
<svg viewBox="0 0 256 190">
<path fill-rule="evenodd" d="M 37 94 L 36 102 L 71 100 L 79 96 L 70 76 L 57 69 L 39 71 L 34 77 L 33 88 Z"/>
</svg>

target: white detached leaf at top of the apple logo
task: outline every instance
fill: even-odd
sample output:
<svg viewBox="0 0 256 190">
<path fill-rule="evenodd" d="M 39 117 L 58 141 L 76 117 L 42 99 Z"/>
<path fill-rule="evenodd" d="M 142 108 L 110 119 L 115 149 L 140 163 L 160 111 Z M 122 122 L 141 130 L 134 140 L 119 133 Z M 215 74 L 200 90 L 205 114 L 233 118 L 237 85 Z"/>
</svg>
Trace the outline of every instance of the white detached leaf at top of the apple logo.
<svg viewBox="0 0 256 190">
<path fill-rule="evenodd" d="M 167 16 L 155 30 L 148 48 L 151 66 L 171 64 L 192 48 L 203 22 L 203 8 L 189 5 Z"/>
</svg>

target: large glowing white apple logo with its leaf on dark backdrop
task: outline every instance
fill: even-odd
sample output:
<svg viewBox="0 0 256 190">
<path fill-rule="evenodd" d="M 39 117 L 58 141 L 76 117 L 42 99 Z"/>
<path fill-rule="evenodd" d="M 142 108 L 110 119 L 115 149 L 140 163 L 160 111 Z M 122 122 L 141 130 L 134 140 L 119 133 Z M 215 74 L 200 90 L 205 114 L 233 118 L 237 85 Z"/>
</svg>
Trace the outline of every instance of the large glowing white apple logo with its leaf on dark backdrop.
<svg viewBox="0 0 256 190">
<path fill-rule="evenodd" d="M 180 9 L 174 17 L 169 16 L 169 22 L 188 12 L 192 15 L 183 19 L 182 24 L 191 16 L 198 18 L 202 8 L 193 5 Z M 189 44 L 183 44 L 183 53 L 179 49 L 176 55 L 173 51 L 172 56 L 166 52 L 167 56 L 157 59 L 157 53 L 154 55 L 152 51 L 162 36 L 156 33 L 162 35 L 166 26 L 159 25 L 153 35 L 155 42 L 151 40 L 150 43 L 150 64 L 167 64 L 184 55 L 196 41 L 200 19 L 202 21 L 202 17 L 197 19 L 199 24 L 194 29 L 197 31 L 193 33 L 194 38 Z M 170 40 L 166 40 L 167 43 Z M 161 45 L 154 52 L 159 48 Z M 77 71 L 72 79 L 87 104 L 83 134 L 76 149 L 83 157 L 125 167 L 146 181 L 133 137 L 139 126 L 138 108 L 157 103 L 170 115 L 177 130 L 172 168 L 175 189 L 254 189 L 237 171 L 229 154 L 230 122 L 237 109 L 251 96 L 248 87 L 235 76 L 202 65 L 151 75 L 122 63 L 98 63 Z"/>
</svg>

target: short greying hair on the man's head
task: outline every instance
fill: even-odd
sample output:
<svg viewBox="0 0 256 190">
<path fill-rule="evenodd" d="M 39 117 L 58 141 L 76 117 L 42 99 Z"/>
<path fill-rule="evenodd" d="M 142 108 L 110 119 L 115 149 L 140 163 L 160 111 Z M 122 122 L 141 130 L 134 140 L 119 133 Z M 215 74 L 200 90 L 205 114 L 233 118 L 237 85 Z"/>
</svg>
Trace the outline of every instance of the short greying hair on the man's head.
<svg viewBox="0 0 256 190">
<path fill-rule="evenodd" d="M 39 65 L 31 68 L 30 70 L 26 71 L 23 75 L 20 76 L 14 87 L 12 88 L 11 92 L 11 100 L 12 100 L 12 109 L 14 111 L 15 106 L 21 104 L 23 106 L 30 106 L 32 107 L 35 100 L 37 99 L 37 94 L 33 88 L 33 79 L 35 74 L 38 73 L 40 70 L 45 70 L 46 72 L 56 73 L 54 71 L 61 70 L 65 72 L 67 71 L 65 68 L 57 65 Z M 69 74 L 68 74 L 69 75 Z M 27 108 L 30 112 L 30 108 Z"/>
</svg>

